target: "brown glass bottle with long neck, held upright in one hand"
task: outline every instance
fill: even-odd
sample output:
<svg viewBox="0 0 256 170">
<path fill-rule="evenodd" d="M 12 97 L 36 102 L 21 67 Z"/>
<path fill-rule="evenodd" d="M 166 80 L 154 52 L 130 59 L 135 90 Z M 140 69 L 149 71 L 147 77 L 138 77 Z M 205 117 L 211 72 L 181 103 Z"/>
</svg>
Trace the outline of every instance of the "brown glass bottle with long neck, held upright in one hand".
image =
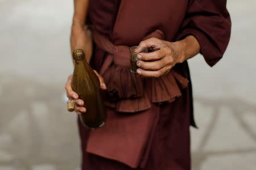
<svg viewBox="0 0 256 170">
<path fill-rule="evenodd" d="M 82 49 L 73 52 L 75 69 L 73 73 L 72 88 L 84 101 L 86 113 L 80 114 L 82 124 L 94 129 L 104 125 L 106 109 L 100 92 L 100 80 L 93 69 L 85 61 L 85 53 Z"/>
</svg>

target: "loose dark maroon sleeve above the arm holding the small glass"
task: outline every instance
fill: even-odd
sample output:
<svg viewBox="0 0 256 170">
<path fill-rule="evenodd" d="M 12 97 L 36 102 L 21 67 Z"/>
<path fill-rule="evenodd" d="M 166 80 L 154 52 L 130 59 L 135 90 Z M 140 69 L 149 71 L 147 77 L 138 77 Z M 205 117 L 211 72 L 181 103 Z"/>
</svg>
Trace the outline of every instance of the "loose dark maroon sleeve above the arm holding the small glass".
<svg viewBox="0 0 256 170">
<path fill-rule="evenodd" d="M 231 20 L 226 0 L 191 0 L 177 39 L 193 35 L 209 66 L 223 56 L 230 39 Z"/>
</svg>

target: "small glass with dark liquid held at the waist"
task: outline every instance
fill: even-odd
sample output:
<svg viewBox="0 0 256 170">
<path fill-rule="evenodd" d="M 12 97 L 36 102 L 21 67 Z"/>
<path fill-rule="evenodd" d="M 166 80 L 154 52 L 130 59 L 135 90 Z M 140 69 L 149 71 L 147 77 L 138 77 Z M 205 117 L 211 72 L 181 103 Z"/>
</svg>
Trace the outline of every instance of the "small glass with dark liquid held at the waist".
<svg viewBox="0 0 256 170">
<path fill-rule="evenodd" d="M 130 63 L 131 63 L 131 73 L 137 74 L 137 61 L 138 59 L 138 54 L 139 53 L 147 53 L 148 50 L 147 48 L 144 48 L 143 46 L 131 46 L 130 47 Z"/>
</svg>

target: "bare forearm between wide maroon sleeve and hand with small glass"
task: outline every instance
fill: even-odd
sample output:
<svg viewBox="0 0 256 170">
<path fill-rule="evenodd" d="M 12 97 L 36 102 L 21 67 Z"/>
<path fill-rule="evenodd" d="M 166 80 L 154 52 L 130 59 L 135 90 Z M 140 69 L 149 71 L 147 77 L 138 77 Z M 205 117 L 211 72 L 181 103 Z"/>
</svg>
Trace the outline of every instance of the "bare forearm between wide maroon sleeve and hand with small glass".
<svg viewBox="0 0 256 170">
<path fill-rule="evenodd" d="M 178 62 L 184 62 L 185 60 L 196 56 L 200 52 L 200 45 L 195 36 L 187 36 L 185 39 L 174 42 L 179 46 L 179 59 Z"/>
</svg>

